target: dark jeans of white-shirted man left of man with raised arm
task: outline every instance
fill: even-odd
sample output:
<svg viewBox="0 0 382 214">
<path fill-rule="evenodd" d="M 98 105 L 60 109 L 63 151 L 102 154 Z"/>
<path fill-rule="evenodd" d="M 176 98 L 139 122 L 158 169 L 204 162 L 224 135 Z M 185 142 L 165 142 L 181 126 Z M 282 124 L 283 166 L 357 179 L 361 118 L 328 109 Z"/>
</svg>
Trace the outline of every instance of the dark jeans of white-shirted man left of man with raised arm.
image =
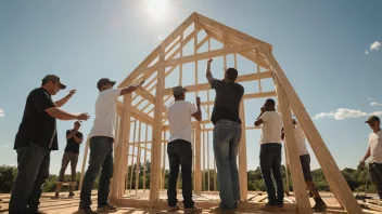
<svg viewBox="0 0 382 214">
<path fill-rule="evenodd" d="M 191 143 L 182 139 L 176 139 L 168 143 L 167 155 L 169 162 L 169 177 L 167 198 L 168 206 L 177 205 L 177 180 L 179 175 L 179 165 L 181 165 L 182 195 L 184 208 L 192 208 L 192 148 Z"/>
</svg>

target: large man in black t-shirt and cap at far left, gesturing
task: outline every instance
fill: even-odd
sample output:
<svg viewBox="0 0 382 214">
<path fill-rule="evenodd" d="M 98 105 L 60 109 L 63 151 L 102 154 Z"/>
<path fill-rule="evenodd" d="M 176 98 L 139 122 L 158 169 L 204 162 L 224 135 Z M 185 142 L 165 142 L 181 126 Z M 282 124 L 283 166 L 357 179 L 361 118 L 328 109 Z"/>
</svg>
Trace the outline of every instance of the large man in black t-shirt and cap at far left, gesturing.
<svg viewBox="0 0 382 214">
<path fill-rule="evenodd" d="M 49 176 L 50 152 L 58 150 L 55 119 L 87 120 L 87 113 L 68 113 L 62 107 L 76 92 L 72 90 L 64 98 L 53 102 L 66 85 L 55 75 L 42 79 L 40 88 L 26 98 L 24 116 L 14 142 L 17 151 L 17 176 L 14 180 L 9 212 L 39 213 L 41 188 Z"/>
</svg>

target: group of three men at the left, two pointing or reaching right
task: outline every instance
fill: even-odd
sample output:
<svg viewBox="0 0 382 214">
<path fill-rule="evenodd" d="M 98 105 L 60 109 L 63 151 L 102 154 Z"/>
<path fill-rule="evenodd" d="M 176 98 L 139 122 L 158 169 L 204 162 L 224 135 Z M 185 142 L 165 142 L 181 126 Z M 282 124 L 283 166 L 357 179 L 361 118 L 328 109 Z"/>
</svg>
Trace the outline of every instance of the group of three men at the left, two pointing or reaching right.
<svg viewBox="0 0 382 214">
<path fill-rule="evenodd" d="M 100 174 L 98 188 L 98 208 L 100 212 L 114 212 L 118 208 L 109 203 L 111 178 L 113 177 L 113 143 L 118 96 L 132 93 L 144 81 L 124 89 L 113 89 L 115 81 L 102 78 L 97 88 L 100 94 L 96 101 L 96 119 L 89 133 L 90 158 L 85 173 L 80 192 L 79 213 L 93 214 L 91 210 L 91 190 L 96 177 Z M 76 120 L 74 129 L 66 132 L 66 148 L 62 160 L 59 180 L 63 182 L 65 169 L 71 162 L 72 177 L 76 177 L 79 144 L 82 134 L 78 131 L 80 121 L 89 119 L 88 113 L 69 113 L 61 109 L 76 93 L 72 90 L 68 95 L 58 102 L 52 96 L 66 88 L 55 75 L 48 75 L 42 79 L 40 88 L 33 90 L 26 98 L 24 116 L 15 137 L 14 149 L 17 152 L 17 175 L 14 180 L 9 212 L 15 214 L 38 214 L 38 206 L 42 186 L 49 177 L 50 153 L 59 149 L 56 119 Z M 73 195 L 71 189 L 69 196 Z"/>
</svg>

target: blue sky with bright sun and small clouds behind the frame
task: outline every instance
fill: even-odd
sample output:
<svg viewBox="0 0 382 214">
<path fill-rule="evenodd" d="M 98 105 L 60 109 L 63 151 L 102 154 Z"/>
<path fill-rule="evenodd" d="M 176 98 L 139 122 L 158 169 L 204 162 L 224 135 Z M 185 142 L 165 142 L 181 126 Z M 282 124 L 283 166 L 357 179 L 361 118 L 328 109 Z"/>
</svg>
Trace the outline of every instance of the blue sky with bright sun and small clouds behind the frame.
<svg viewBox="0 0 382 214">
<path fill-rule="evenodd" d="M 122 81 L 160 38 L 196 11 L 271 43 L 339 166 L 356 166 L 370 132 L 364 121 L 370 112 L 382 111 L 382 2 L 166 2 L 167 13 L 157 18 L 150 14 L 148 0 L 0 1 L 0 116 L 4 116 L 0 117 L 0 164 L 16 163 L 12 147 L 25 99 L 43 76 L 55 73 L 68 85 L 54 99 L 77 89 L 63 109 L 92 116 L 81 128 L 86 135 L 92 125 L 98 79 Z M 219 72 L 217 63 L 213 70 Z M 253 69 L 240 66 L 239 71 Z M 168 78 L 166 85 L 176 81 Z M 262 102 L 245 103 L 247 124 L 257 117 Z M 72 121 L 58 122 L 60 151 L 52 152 L 51 173 L 60 170 L 64 133 L 72 126 Z M 249 131 L 246 137 L 249 168 L 255 169 L 259 131 Z M 317 166 L 314 159 L 313 168 Z"/>
</svg>

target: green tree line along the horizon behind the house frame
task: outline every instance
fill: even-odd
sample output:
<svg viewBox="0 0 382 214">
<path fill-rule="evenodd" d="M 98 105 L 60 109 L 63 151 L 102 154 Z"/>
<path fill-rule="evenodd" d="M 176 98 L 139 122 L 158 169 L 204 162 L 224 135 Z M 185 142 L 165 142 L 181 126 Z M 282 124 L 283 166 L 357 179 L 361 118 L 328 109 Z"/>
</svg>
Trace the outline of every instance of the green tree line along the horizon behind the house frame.
<svg viewBox="0 0 382 214">
<path fill-rule="evenodd" d="M 132 171 L 131 171 L 132 170 Z M 145 179 L 143 179 L 143 171 L 145 171 Z M 132 166 L 128 166 L 128 175 L 126 176 L 125 179 L 125 188 L 129 189 L 131 186 L 131 189 L 136 188 L 136 172 L 137 172 L 137 163 L 133 164 Z M 132 175 L 131 175 L 132 173 Z M 163 173 L 163 172 L 162 172 Z M 10 166 L 10 165 L 0 165 L 0 193 L 9 193 L 11 192 L 13 182 L 16 177 L 17 174 L 17 169 L 15 166 Z M 208 183 L 208 174 L 209 174 L 209 183 Z M 281 174 L 284 179 L 285 184 L 285 166 L 281 166 Z M 321 169 L 317 169 L 311 171 L 314 182 L 317 185 L 317 188 L 319 191 L 330 191 L 329 185 L 327 179 L 324 178 L 324 175 L 322 173 Z M 353 191 L 365 191 L 365 184 L 366 184 L 366 177 L 367 177 L 367 171 L 366 170 L 353 170 L 353 169 L 344 169 L 342 171 L 342 174 L 347 182 L 349 188 Z M 216 178 L 216 184 L 217 184 L 217 175 L 214 170 L 205 170 L 202 171 L 202 175 L 204 176 L 204 184 L 202 184 L 202 189 L 204 191 L 215 190 L 215 178 Z M 290 175 L 290 172 L 289 172 Z M 147 164 L 143 165 L 142 163 L 139 164 L 139 184 L 138 188 L 143 189 L 143 180 L 145 183 L 145 188 L 150 189 L 150 176 L 151 176 L 151 163 L 150 161 L 147 161 Z M 169 171 L 165 170 L 165 184 L 164 188 L 167 188 L 167 178 L 169 176 Z M 179 173 L 180 176 L 180 184 L 179 187 L 181 187 L 181 172 Z M 71 175 L 65 175 L 65 180 L 68 180 L 71 178 Z M 132 179 L 131 179 L 132 178 Z M 44 192 L 53 192 L 55 191 L 55 184 L 59 179 L 58 175 L 50 175 L 46 185 L 43 186 L 43 191 Z M 80 173 L 77 172 L 76 176 L 76 182 L 79 184 L 80 179 Z M 130 182 L 131 180 L 131 182 Z M 292 189 L 292 179 L 291 176 L 289 176 L 289 187 L 290 191 L 293 191 Z M 131 185 L 130 185 L 131 183 Z M 93 189 L 98 188 L 99 184 L 99 177 L 94 182 L 94 187 Z M 208 184 L 209 184 L 209 189 L 208 189 Z M 377 192 L 377 188 L 374 185 L 371 185 L 371 182 L 368 180 L 368 192 Z M 286 187 L 285 187 L 286 188 Z M 247 172 L 247 189 L 251 191 L 265 191 L 265 184 L 262 178 L 262 171 L 260 168 L 257 168 L 256 170 L 251 170 Z M 218 186 L 216 186 L 216 190 L 218 189 Z M 62 187 L 62 191 L 67 191 L 67 186 Z"/>
</svg>

